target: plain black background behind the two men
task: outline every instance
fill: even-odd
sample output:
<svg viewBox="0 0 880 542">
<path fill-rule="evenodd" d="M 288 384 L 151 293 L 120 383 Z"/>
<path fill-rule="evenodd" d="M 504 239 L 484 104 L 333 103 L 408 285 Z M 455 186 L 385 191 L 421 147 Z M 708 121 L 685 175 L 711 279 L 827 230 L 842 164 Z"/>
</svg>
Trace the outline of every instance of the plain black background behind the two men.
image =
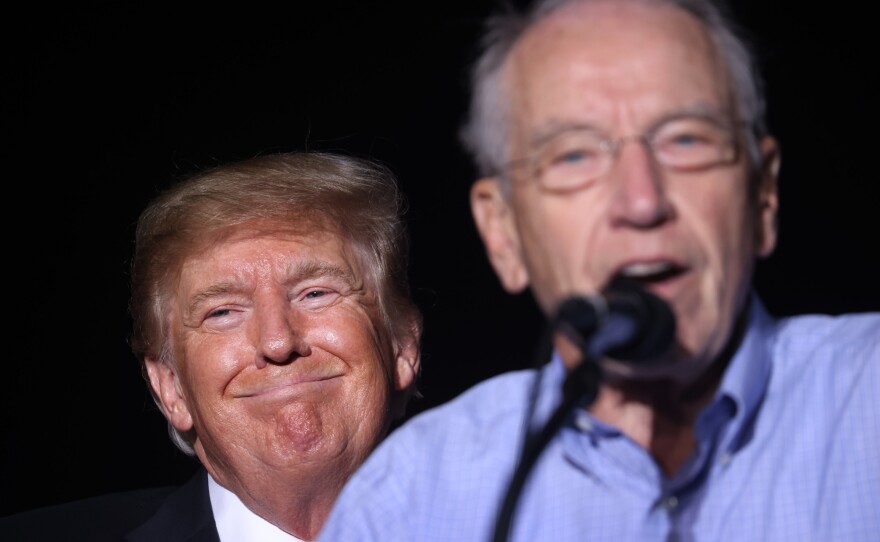
<svg viewBox="0 0 880 542">
<path fill-rule="evenodd" d="M 126 272 L 148 199 L 216 163 L 313 148 L 400 177 L 426 321 L 411 413 L 532 362 L 540 318 L 489 268 L 456 135 L 491 1 L 119 4 L 5 17 L 0 515 L 191 471 L 128 350 Z M 853 9 L 737 4 L 782 141 L 756 277 L 777 314 L 880 308 L 876 51 Z"/>
</svg>

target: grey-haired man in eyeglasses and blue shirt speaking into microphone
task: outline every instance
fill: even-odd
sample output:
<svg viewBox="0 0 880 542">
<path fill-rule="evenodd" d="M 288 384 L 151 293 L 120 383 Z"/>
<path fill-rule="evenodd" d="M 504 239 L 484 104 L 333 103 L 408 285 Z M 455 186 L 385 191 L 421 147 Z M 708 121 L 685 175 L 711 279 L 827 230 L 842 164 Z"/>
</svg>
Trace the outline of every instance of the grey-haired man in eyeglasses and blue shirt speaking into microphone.
<svg viewBox="0 0 880 542">
<path fill-rule="evenodd" d="M 621 308 L 581 337 L 549 328 L 540 370 L 383 442 L 320 540 L 877 539 L 880 313 L 774 318 L 752 289 L 776 243 L 780 154 L 735 28 L 711 0 L 490 19 L 464 136 L 502 286 L 529 289 L 549 327 L 572 298 L 620 303 L 635 283 L 674 337 L 634 363 L 599 348 Z"/>
</svg>

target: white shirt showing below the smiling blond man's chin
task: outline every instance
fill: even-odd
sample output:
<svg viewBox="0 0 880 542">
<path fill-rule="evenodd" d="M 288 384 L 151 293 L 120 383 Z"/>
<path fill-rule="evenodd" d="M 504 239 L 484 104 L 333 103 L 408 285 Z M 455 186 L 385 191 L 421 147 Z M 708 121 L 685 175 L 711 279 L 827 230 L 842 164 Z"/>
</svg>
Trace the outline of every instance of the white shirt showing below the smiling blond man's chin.
<svg viewBox="0 0 880 542">
<path fill-rule="evenodd" d="M 222 542 L 303 542 L 253 513 L 238 496 L 208 476 L 214 523 Z"/>
</svg>

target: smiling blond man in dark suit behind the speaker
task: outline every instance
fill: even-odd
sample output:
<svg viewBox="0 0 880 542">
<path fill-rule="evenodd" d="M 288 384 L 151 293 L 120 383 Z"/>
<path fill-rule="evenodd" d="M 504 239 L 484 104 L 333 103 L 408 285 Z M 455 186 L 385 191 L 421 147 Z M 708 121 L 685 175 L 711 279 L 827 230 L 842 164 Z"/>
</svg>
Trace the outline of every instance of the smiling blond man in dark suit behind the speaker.
<svg viewBox="0 0 880 542">
<path fill-rule="evenodd" d="M 4 539 L 313 540 L 419 373 L 401 203 L 385 168 L 323 153 L 160 194 L 137 228 L 132 347 L 204 469 L 8 518 Z"/>
</svg>

